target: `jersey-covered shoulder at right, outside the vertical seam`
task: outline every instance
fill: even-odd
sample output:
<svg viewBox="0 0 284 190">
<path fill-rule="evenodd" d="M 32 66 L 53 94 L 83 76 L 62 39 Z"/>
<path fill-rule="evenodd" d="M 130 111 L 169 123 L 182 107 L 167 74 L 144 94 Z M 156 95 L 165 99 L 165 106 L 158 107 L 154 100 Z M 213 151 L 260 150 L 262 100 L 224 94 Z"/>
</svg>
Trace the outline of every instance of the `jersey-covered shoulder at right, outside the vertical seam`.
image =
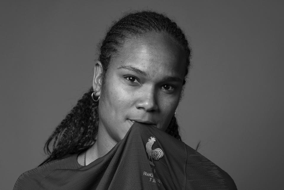
<svg viewBox="0 0 284 190">
<path fill-rule="evenodd" d="M 212 161 L 186 145 L 186 184 L 194 189 L 204 186 L 208 189 L 237 189 L 231 176 Z"/>
</svg>

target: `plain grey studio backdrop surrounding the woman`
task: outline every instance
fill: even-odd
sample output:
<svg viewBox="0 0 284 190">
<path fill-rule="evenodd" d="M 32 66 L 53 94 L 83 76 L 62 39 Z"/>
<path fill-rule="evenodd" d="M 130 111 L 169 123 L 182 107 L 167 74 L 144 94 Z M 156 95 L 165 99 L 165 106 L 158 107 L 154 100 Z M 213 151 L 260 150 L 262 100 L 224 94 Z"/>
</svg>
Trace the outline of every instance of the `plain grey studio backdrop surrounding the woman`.
<svg viewBox="0 0 284 190">
<path fill-rule="evenodd" d="M 177 109 L 184 142 L 238 189 L 283 178 L 281 1 L 1 1 L 0 189 L 45 158 L 43 144 L 91 87 L 97 44 L 131 10 L 165 12 L 193 67 Z M 278 187 L 278 188 L 277 188 Z"/>
</svg>

